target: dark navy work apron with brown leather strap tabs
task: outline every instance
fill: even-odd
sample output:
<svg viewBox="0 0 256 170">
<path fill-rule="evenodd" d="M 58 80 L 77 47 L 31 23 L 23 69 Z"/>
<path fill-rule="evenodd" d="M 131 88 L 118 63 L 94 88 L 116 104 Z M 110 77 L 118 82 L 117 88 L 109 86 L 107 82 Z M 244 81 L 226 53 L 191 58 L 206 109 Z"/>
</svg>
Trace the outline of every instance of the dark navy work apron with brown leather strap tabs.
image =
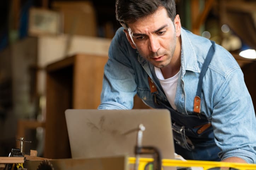
<svg viewBox="0 0 256 170">
<path fill-rule="evenodd" d="M 156 88 L 151 89 L 151 93 L 155 96 L 156 108 L 167 108 L 171 113 L 175 152 L 188 160 L 220 160 L 218 157 L 220 149 L 214 141 L 213 127 L 206 116 L 200 113 L 203 77 L 213 56 L 210 53 L 211 50 L 214 51 L 214 45 L 215 43 L 212 42 L 200 72 L 193 114 L 184 115 L 175 111 L 157 99 L 158 91 Z M 150 87 L 152 83 L 152 80 L 149 80 Z"/>
</svg>

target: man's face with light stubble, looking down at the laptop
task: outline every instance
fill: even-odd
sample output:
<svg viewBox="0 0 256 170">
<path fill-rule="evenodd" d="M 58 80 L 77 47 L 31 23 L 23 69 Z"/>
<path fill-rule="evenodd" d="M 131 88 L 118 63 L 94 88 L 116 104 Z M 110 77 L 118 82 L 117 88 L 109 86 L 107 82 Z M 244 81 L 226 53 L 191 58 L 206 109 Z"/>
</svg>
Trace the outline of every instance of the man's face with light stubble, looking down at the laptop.
<svg viewBox="0 0 256 170">
<path fill-rule="evenodd" d="M 180 24 L 179 15 L 178 23 Z M 175 17 L 175 20 L 177 18 Z M 176 21 L 177 22 L 177 21 Z M 173 58 L 176 39 L 180 36 L 175 29 L 175 21 L 171 21 L 165 8 L 160 7 L 155 13 L 128 24 L 124 30 L 134 49 L 155 67 L 166 67 Z"/>
</svg>

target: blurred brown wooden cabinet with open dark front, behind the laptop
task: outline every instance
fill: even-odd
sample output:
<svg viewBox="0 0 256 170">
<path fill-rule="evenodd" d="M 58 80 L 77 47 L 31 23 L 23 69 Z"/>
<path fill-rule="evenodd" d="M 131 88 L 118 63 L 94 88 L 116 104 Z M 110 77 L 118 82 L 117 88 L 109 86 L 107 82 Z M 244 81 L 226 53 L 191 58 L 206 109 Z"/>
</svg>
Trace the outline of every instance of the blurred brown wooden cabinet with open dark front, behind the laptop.
<svg viewBox="0 0 256 170">
<path fill-rule="evenodd" d="M 46 68 L 45 158 L 70 158 L 65 110 L 97 109 L 107 56 L 78 54 Z"/>
</svg>

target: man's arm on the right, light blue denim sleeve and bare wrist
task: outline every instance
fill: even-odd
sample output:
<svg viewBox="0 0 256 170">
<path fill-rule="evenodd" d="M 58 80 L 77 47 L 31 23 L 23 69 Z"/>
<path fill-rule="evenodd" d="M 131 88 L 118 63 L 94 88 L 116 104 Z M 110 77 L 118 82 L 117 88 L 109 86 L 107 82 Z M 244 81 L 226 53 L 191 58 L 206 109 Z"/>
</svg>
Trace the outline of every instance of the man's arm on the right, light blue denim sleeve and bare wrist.
<svg viewBox="0 0 256 170">
<path fill-rule="evenodd" d="M 225 77 L 214 98 L 212 125 L 225 162 L 256 163 L 256 119 L 240 69 Z"/>
</svg>

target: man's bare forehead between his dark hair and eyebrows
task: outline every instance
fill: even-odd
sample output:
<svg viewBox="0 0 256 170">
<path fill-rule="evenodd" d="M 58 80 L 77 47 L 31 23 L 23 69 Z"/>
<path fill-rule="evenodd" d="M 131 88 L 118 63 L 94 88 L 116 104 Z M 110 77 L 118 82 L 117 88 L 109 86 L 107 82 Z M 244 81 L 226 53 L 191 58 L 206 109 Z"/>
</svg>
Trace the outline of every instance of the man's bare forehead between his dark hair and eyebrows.
<svg viewBox="0 0 256 170">
<path fill-rule="evenodd" d="M 134 23 L 129 23 L 129 31 L 132 33 L 146 33 L 159 29 L 163 25 L 172 23 L 168 16 L 167 10 L 164 7 L 159 7 L 158 10 L 146 17 L 139 18 Z"/>
</svg>

